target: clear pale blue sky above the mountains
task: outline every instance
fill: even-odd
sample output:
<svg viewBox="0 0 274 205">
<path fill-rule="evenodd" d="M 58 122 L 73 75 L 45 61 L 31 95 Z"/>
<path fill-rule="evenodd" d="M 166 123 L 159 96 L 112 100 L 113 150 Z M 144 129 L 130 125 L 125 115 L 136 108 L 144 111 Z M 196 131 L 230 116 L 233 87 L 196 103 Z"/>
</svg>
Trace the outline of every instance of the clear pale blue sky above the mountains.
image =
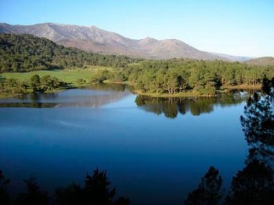
<svg viewBox="0 0 274 205">
<path fill-rule="evenodd" d="M 95 25 L 128 38 L 177 38 L 203 51 L 274 56 L 273 0 L 0 0 L 0 22 Z"/>
</svg>

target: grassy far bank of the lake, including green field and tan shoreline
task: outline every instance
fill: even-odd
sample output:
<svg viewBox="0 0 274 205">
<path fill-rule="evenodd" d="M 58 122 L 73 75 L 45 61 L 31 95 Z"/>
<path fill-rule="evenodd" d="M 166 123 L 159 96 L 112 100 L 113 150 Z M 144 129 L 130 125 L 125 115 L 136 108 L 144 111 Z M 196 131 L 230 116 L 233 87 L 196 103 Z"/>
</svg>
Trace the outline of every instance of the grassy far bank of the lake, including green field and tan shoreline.
<svg viewBox="0 0 274 205">
<path fill-rule="evenodd" d="M 60 89 L 55 89 L 55 90 L 47 90 L 45 93 L 55 93 L 55 92 L 61 92 L 66 89 L 72 89 L 72 88 L 82 88 L 82 87 L 88 87 L 94 83 L 89 83 L 90 77 L 92 77 L 93 74 L 97 70 L 111 70 L 112 68 L 107 68 L 107 67 L 99 67 L 99 66 L 90 66 L 87 69 L 80 69 L 80 68 L 75 68 L 75 69 L 65 69 L 65 70 L 39 70 L 39 71 L 34 71 L 34 72 L 24 72 L 24 73 L 18 73 L 18 72 L 5 72 L 1 74 L 2 77 L 4 78 L 14 78 L 18 79 L 21 82 L 28 81 L 30 77 L 32 77 L 34 74 L 38 74 L 40 77 L 43 77 L 45 75 L 50 75 L 52 77 L 57 77 L 58 79 L 68 83 L 68 87 L 64 88 L 61 87 Z M 129 81 L 124 81 L 124 82 L 113 82 L 109 80 L 105 80 L 103 83 L 108 83 L 108 84 L 121 84 L 121 85 L 129 85 L 132 86 L 132 83 Z M 171 97 L 177 97 L 177 98 L 184 98 L 184 97 L 214 97 L 219 94 L 229 92 L 229 90 L 260 90 L 261 85 L 256 84 L 256 85 L 248 85 L 248 84 L 242 84 L 242 85 L 234 85 L 234 86 L 223 86 L 221 87 L 220 90 L 216 90 L 216 94 L 201 94 L 197 90 L 186 90 L 183 92 L 178 92 L 175 94 L 167 94 L 167 93 L 156 93 L 156 92 L 142 92 L 141 90 L 134 90 L 132 89 L 132 92 L 135 94 L 139 94 L 142 96 L 150 96 L 154 98 L 171 98 Z M 3 92 L 3 90 L 0 92 L 0 99 L 3 98 L 13 98 L 20 96 L 21 94 L 18 94 L 15 92 L 15 87 L 14 90 L 8 90 L 8 92 Z M 32 90 L 27 90 L 24 94 L 30 94 L 32 93 Z"/>
</svg>

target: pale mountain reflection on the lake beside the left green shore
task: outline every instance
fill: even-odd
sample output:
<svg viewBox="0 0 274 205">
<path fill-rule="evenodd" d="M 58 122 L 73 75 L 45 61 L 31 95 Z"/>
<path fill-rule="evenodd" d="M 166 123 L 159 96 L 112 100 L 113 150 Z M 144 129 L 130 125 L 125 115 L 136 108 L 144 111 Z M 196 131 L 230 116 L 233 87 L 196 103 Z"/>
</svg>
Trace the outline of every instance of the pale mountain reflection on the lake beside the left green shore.
<svg viewBox="0 0 274 205">
<path fill-rule="evenodd" d="M 66 90 L 58 93 L 25 94 L 18 98 L 0 100 L 0 107 L 92 107 L 116 102 L 130 95 L 125 85 L 95 84 L 82 89 Z"/>
</svg>

